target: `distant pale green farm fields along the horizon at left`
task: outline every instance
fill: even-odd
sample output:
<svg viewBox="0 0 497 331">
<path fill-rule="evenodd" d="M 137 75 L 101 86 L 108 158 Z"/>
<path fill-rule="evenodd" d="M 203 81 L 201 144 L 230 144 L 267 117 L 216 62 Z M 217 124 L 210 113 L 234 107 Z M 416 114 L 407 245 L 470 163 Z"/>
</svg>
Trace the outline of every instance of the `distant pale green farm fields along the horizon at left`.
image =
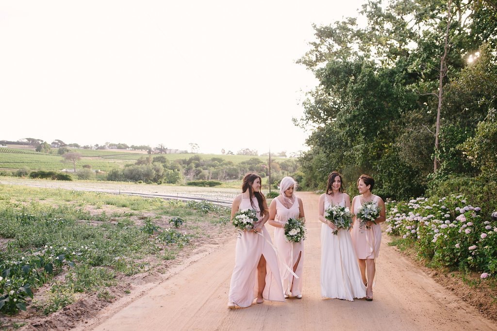
<svg viewBox="0 0 497 331">
<path fill-rule="evenodd" d="M 92 169 L 100 169 L 108 172 L 113 168 L 123 167 L 125 164 L 134 163 L 140 157 L 147 157 L 148 154 L 143 152 L 130 152 L 120 150 L 87 150 L 74 149 L 82 154 L 82 159 L 76 164 L 77 169 L 88 164 Z M 249 155 L 217 155 L 217 154 L 153 154 L 152 156 L 165 156 L 168 160 L 174 161 L 179 159 L 189 159 L 192 156 L 200 156 L 202 159 L 213 157 L 222 158 L 238 164 L 251 158 L 259 158 L 262 161 L 268 161 L 267 156 L 249 156 Z M 286 158 L 271 158 L 275 161 L 283 161 Z M 0 169 L 16 170 L 27 167 L 31 170 L 51 170 L 57 171 L 64 168 L 72 168 L 71 163 L 61 162 L 63 157 L 57 154 L 38 153 L 30 149 L 18 148 L 0 148 Z"/>
</svg>

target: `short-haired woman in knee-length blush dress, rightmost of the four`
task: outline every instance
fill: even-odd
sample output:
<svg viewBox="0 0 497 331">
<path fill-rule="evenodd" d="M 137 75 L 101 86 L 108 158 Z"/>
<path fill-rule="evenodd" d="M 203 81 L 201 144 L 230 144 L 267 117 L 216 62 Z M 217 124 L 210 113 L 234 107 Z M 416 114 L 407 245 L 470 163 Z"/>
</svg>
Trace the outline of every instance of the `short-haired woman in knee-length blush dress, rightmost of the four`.
<svg viewBox="0 0 497 331">
<path fill-rule="evenodd" d="M 366 300 L 373 301 L 373 280 L 376 273 L 375 259 L 380 253 L 381 243 L 381 222 L 385 222 L 385 203 L 383 200 L 371 193 L 374 187 L 374 179 L 368 175 L 361 175 L 357 180 L 359 196 L 352 199 L 352 213 L 355 214 L 359 207 L 369 201 L 374 201 L 380 209 L 380 216 L 374 222 L 368 221 L 365 224 L 354 217 L 352 227 L 352 242 L 354 244 L 357 259 L 359 259 L 359 269 L 361 270 L 362 281 L 367 285 Z M 366 277 L 367 271 L 367 277 Z"/>
</svg>

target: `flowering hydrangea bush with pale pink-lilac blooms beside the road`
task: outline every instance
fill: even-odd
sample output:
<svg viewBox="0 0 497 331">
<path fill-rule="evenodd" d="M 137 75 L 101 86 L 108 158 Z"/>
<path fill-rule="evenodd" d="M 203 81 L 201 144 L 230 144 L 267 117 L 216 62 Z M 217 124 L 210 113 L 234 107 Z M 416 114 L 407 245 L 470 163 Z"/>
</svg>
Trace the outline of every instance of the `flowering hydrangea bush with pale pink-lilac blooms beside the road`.
<svg viewBox="0 0 497 331">
<path fill-rule="evenodd" d="M 481 208 L 463 196 L 417 198 L 387 204 L 386 230 L 417 244 L 419 254 L 433 265 L 497 272 L 497 223 L 483 220 Z"/>
</svg>

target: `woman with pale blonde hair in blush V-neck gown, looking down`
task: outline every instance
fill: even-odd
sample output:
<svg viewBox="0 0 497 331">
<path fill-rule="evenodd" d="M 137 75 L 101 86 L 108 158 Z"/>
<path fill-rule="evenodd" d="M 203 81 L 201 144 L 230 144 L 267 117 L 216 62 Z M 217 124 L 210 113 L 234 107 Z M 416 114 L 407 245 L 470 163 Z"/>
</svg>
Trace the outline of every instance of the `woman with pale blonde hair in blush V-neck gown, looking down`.
<svg viewBox="0 0 497 331">
<path fill-rule="evenodd" d="M 297 183 L 292 177 L 284 177 L 280 183 L 280 195 L 269 205 L 269 224 L 274 229 L 274 245 L 278 250 L 279 269 L 285 298 L 302 298 L 302 271 L 304 269 L 304 242 L 294 243 L 285 237 L 285 224 L 289 218 L 303 218 L 302 199 L 295 196 Z M 305 222 L 305 220 L 304 220 Z M 297 275 L 290 272 L 290 268 Z M 290 270 L 289 270 L 290 269 Z"/>
</svg>

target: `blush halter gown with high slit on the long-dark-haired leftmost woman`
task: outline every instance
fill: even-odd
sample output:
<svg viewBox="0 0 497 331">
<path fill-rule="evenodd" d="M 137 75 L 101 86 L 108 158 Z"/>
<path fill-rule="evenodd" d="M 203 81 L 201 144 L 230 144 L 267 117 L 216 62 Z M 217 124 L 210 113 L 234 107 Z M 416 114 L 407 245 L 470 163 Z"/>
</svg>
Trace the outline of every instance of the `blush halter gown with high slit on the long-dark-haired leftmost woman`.
<svg viewBox="0 0 497 331">
<path fill-rule="evenodd" d="M 257 199 L 252 199 L 256 206 L 257 218 L 260 218 Z M 253 209 L 250 199 L 242 199 L 239 210 L 242 209 Z M 262 227 L 262 233 L 254 231 L 241 231 L 239 233 L 235 251 L 235 268 L 231 276 L 228 295 L 229 301 L 240 307 L 248 307 L 257 297 L 257 289 L 259 288 L 257 265 L 261 255 L 266 259 L 266 285 L 262 297 L 266 300 L 285 301 L 279 277 L 278 260 L 271 245 L 271 237 L 265 226 Z"/>
</svg>

